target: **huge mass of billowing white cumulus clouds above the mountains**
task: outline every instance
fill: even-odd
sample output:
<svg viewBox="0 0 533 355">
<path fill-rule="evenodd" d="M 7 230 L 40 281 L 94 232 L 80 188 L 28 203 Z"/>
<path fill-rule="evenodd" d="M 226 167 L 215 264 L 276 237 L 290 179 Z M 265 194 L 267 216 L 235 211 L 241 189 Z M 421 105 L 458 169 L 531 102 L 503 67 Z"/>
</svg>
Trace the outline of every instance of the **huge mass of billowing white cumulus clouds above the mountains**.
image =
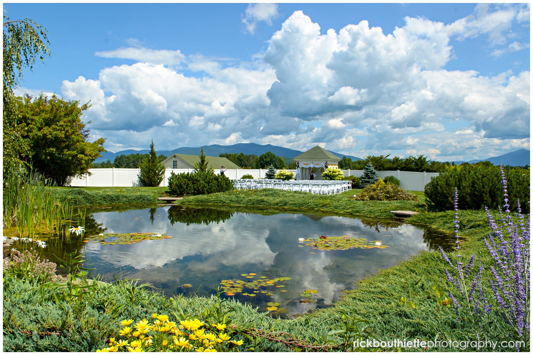
<svg viewBox="0 0 533 355">
<path fill-rule="evenodd" d="M 365 20 L 321 33 L 296 11 L 251 61 L 138 43 L 98 54 L 138 63 L 102 69 L 98 79 L 66 80 L 62 94 L 91 100 L 85 116 L 111 151 L 146 149 L 151 138 L 165 137 L 157 149 L 256 142 L 298 150 L 321 144 L 359 157 L 417 152 L 458 160 L 464 152 L 485 158 L 528 146 L 529 71 L 447 70 L 450 40 L 484 36 L 489 45 L 501 43 L 508 24 L 526 21 L 520 15 L 526 9 L 478 5 L 450 24 L 408 17 L 391 34 Z M 176 64 L 203 77 L 187 76 Z M 455 130 L 471 133 L 458 138 Z"/>
</svg>

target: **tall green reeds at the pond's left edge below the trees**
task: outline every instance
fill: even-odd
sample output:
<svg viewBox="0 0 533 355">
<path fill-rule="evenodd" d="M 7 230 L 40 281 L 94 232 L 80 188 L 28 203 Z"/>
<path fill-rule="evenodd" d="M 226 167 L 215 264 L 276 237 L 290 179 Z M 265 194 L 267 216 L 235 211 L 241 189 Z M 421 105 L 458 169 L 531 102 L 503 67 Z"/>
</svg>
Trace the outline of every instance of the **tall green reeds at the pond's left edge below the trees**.
<svg viewBox="0 0 533 355">
<path fill-rule="evenodd" d="M 59 197 L 46 187 L 46 181 L 34 171 L 21 171 L 4 180 L 4 228 L 15 227 L 20 237 L 68 235 L 68 226 L 76 216 L 68 197 Z"/>
</svg>

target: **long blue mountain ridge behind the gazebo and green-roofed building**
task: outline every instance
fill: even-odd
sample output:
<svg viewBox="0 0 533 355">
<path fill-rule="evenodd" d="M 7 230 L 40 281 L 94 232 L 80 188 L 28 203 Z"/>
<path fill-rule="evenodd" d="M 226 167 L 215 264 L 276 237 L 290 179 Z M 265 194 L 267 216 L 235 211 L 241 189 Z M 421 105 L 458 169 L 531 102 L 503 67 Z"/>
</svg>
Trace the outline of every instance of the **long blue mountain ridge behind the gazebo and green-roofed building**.
<svg viewBox="0 0 533 355">
<path fill-rule="evenodd" d="M 233 144 L 232 146 L 221 146 L 220 144 L 212 144 L 211 146 L 203 146 L 203 147 L 180 147 L 173 150 L 158 150 L 157 155 L 163 154 L 167 157 L 176 153 L 176 154 L 188 154 L 188 155 L 198 155 L 200 154 L 200 148 L 204 148 L 204 153 L 206 156 L 211 157 L 217 157 L 221 153 L 241 153 L 243 152 L 246 155 L 255 154 L 257 156 L 260 156 L 261 154 L 264 154 L 268 151 L 273 152 L 273 154 L 279 156 L 279 157 L 286 157 L 286 158 L 294 158 L 297 155 L 300 155 L 303 153 L 303 151 L 300 150 L 294 150 L 279 146 L 272 146 L 272 144 L 265 144 L 262 146 L 261 144 L 256 143 L 237 143 Z M 336 153 L 332 150 L 329 150 L 333 154 L 335 154 L 337 157 L 342 158 L 345 156 L 346 158 L 351 158 L 353 161 L 355 160 L 361 160 L 361 158 L 354 157 L 351 155 L 345 155 L 341 153 Z M 101 163 L 101 162 L 107 162 L 107 160 L 115 160 L 115 158 L 119 155 L 130 155 L 130 154 L 146 154 L 148 153 L 148 149 L 142 149 L 142 150 L 133 150 L 133 149 L 127 149 L 127 150 L 121 150 L 114 152 L 104 152 L 102 153 L 102 157 L 94 160 L 94 163 Z"/>
</svg>

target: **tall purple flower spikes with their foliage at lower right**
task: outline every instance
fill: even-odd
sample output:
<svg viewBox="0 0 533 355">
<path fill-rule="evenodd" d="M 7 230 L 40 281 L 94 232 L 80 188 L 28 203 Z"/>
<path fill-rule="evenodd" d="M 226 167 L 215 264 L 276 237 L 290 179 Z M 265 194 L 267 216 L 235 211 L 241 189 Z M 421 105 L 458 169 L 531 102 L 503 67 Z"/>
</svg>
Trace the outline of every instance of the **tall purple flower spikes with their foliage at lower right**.
<svg viewBox="0 0 533 355">
<path fill-rule="evenodd" d="M 500 174 L 503 208 L 498 209 L 496 217 L 488 207 L 485 208 L 490 231 L 483 242 L 491 260 L 483 262 L 481 256 L 477 258 L 472 254 L 466 262 L 461 255 L 457 188 L 454 196 L 456 261 L 450 260 L 439 248 L 442 257 L 452 268 L 451 271 L 446 270 L 446 275 L 455 286 L 455 295 L 451 292 L 449 295 L 457 313 L 457 321 L 470 322 L 478 340 L 481 335 L 488 338 L 500 335 L 516 342 L 516 350 L 526 350 L 530 342 L 530 215 L 522 214 L 519 199 L 516 199 L 517 212 L 511 214 L 502 165 Z M 486 279 L 490 287 L 484 286 Z"/>
</svg>

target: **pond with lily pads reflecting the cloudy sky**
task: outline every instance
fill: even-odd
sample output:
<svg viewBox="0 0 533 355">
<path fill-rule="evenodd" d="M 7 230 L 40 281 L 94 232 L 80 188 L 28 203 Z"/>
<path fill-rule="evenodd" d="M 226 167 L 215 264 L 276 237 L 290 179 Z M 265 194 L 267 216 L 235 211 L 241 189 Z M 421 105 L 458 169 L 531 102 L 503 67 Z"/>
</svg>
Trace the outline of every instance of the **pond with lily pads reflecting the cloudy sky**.
<svg viewBox="0 0 533 355">
<path fill-rule="evenodd" d="M 142 279 L 169 296 L 210 295 L 224 287 L 223 297 L 259 311 L 274 302 L 273 316 L 282 317 L 328 306 L 377 269 L 439 245 L 450 249 L 455 241 L 400 220 L 273 209 L 100 211 L 87 215 L 83 238 L 72 243 L 85 254 L 85 267 L 104 280 Z"/>
</svg>

